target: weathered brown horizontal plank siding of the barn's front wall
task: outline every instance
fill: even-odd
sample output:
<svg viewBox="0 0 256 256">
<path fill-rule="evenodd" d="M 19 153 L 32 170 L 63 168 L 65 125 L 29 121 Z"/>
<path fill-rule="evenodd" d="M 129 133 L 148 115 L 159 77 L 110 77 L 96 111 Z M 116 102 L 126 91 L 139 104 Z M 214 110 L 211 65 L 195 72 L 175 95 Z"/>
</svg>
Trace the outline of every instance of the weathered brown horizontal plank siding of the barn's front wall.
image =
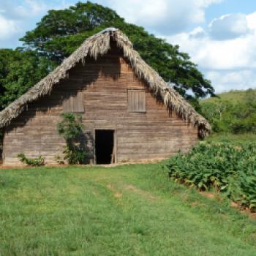
<svg viewBox="0 0 256 256">
<path fill-rule="evenodd" d="M 56 132 L 59 115 L 67 92 L 78 91 L 83 91 L 86 148 L 92 161 L 95 129 L 116 130 L 117 162 L 163 159 L 179 149 L 187 151 L 197 141 L 197 127 L 167 110 L 149 91 L 146 113 L 129 113 L 127 90 L 146 88 L 116 48 L 97 61 L 87 58 L 85 67 L 78 64 L 48 97 L 29 104 L 12 120 L 4 135 L 4 165 L 20 164 L 20 152 L 56 163 L 65 146 Z"/>
</svg>

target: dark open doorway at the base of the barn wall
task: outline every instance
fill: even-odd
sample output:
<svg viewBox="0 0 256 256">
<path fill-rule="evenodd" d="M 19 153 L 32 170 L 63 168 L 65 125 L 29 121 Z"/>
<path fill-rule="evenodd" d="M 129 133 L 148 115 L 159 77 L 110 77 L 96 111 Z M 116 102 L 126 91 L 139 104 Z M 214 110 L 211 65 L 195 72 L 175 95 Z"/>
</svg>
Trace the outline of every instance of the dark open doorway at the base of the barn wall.
<svg viewBox="0 0 256 256">
<path fill-rule="evenodd" d="M 97 165 L 108 165 L 115 162 L 114 130 L 95 130 L 95 157 Z"/>
</svg>

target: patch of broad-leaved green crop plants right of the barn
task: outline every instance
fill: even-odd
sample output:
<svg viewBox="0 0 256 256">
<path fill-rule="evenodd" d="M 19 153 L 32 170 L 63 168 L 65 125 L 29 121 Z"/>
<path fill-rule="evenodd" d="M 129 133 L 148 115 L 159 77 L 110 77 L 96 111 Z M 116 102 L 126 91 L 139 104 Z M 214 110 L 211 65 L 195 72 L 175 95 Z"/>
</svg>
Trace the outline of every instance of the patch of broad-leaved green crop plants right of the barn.
<svg viewBox="0 0 256 256">
<path fill-rule="evenodd" d="M 205 143 L 167 163 L 175 181 L 208 190 L 214 187 L 241 206 L 256 210 L 256 144 Z"/>
</svg>

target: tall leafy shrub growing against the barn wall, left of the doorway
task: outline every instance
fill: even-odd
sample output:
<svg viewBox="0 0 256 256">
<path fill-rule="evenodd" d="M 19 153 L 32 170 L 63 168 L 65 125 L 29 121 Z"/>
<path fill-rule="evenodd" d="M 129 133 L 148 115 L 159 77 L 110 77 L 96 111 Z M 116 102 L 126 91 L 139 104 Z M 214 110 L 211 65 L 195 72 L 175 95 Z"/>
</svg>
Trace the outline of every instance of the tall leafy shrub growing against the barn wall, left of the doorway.
<svg viewBox="0 0 256 256">
<path fill-rule="evenodd" d="M 82 117 L 74 113 L 61 114 L 62 121 L 58 124 L 59 135 L 66 140 L 67 146 L 64 149 L 64 159 L 70 165 L 83 164 L 86 160 L 86 149 L 84 147 L 85 129 L 82 124 Z"/>
</svg>

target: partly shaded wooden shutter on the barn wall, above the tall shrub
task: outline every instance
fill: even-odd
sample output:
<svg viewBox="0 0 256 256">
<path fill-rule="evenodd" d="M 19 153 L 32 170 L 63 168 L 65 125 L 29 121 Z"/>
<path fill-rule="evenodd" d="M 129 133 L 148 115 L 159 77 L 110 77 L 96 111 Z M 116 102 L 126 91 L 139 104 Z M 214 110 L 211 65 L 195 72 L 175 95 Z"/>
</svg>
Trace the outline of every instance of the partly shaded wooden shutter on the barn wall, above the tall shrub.
<svg viewBox="0 0 256 256">
<path fill-rule="evenodd" d="M 78 94 L 67 93 L 63 102 L 63 111 L 66 113 L 83 113 L 83 91 Z"/>
</svg>

